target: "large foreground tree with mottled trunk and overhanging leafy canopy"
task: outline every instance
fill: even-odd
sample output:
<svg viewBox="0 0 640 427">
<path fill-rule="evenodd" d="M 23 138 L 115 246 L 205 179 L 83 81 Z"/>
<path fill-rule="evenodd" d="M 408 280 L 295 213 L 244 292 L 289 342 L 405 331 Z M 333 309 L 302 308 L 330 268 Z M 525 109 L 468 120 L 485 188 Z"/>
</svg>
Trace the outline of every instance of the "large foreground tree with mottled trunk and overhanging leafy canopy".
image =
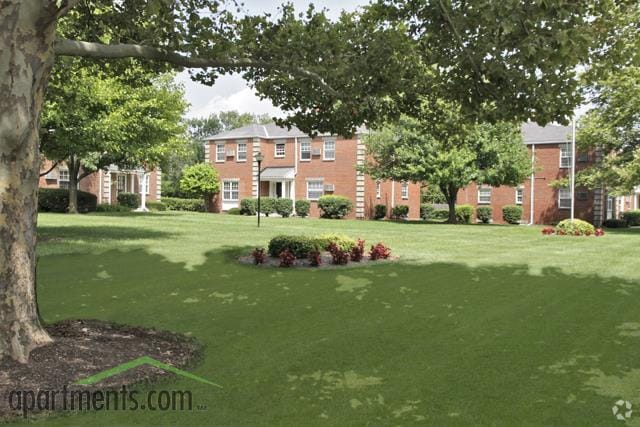
<svg viewBox="0 0 640 427">
<path fill-rule="evenodd" d="M 35 303 L 35 225 L 39 114 L 56 55 L 198 68 L 205 84 L 244 70 L 287 112 L 281 123 L 307 132 L 349 134 L 435 90 L 466 114 L 544 122 L 573 110 L 575 66 L 610 25 L 608 8 L 631 3 L 388 0 L 331 22 L 290 6 L 278 19 L 237 20 L 223 0 L 0 1 L 0 356 L 22 362 L 49 341 Z M 62 19 L 66 38 L 56 39 Z"/>
</svg>

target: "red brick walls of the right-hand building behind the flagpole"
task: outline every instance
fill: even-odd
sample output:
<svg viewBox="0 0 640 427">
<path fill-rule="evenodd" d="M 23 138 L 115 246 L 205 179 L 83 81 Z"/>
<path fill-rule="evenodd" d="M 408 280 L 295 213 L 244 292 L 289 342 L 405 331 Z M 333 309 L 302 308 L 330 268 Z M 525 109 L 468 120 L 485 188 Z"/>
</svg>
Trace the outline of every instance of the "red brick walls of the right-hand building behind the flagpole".
<svg viewBox="0 0 640 427">
<path fill-rule="evenodd" d="M 529 147 L 531 154 L 531 147 Z M 558 207 L 558 190 L 550 186 L 554 180 L 569 176 L 569 168 L 560 168 L 560 147 L 557 144 L 536 145 L 535 147 L 536 171 L 534 187 L 534 214 L 535 224 L 551 224 L 569 218 L 570 209 Z M 590 154 L 588 162 L 576 161 L 576 170 L 580 170 L 593 160 Z M 531 180 L 523 182 L 523 222 L 529 223 L 531 218 Z M 491 206 L 493 208 L 493 222 L 503 223 L 502 207 L 515 204 L 514 187 L 497 187 L 491 191 Z M 579 193 L 586 192 L 586 200 L 580 200 Z M 471 184 L 458 192 L 458 204 L 470 204 L 478 206 L 478 187 Z M 593 191 L 584 188 L 576 188 L 575 216 L 586 221 L 593 221 Z"/>
</svg>

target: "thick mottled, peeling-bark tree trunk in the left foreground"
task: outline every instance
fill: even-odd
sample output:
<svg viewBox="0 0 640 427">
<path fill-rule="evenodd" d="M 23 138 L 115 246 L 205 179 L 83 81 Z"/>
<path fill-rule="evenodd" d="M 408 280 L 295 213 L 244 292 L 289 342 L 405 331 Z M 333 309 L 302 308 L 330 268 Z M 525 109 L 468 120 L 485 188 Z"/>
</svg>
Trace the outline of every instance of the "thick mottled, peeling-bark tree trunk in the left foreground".
<svg viewBox="0 0 640 427">
<path fill-rule="evenodd" d="M 55 1 L 0 1 L 0 359 L 51 342 L 36 305 L 39 117 L 53 62 Z"/>
</svg>

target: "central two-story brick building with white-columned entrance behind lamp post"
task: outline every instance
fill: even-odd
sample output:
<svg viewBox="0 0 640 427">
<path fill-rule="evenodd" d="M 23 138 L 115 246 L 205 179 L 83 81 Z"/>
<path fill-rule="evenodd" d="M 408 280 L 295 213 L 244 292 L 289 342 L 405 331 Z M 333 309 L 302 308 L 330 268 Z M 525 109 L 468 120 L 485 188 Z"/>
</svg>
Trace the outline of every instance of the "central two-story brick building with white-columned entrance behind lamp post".
<svg viewBox="0 0 640 427">
<path fill-rule="evenodd" d="M 316 203 L 320 196 L 335 194 L 352 200 L 350 218 L 370 218 L 376 204 L 385 204 L 389 209 L 408 205 L 409 219 L 418 219 L 418 184 L 376 182 L 356 170 L 365 158 L 361 135 L 310 138 L 296 128 L 254 124 L 206 138 L 205 161 L 220 174 L 218 208 L 226 211 L 238 207 L 244 198 L 257 197 L 254 155 L 260 151 L 264 156 L 261 196 L 310 200 L 314 217 L 320 215 Z"/>
</svg>

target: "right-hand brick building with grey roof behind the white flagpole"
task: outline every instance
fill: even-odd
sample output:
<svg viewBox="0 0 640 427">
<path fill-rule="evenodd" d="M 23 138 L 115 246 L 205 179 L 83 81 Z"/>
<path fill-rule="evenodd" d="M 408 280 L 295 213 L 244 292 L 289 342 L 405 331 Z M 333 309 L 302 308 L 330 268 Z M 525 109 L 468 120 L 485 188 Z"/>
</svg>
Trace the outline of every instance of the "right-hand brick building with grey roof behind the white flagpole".
<svg viewBox="0 0 640 427">
<path fill-rule="evenodd" d="M 523 223 L 552 224 L 570 217 L 571 191 L 555 189 L 550 183 L 571 173 L 572 130 L 568 126 L 538 126 L 525 123 L 522 126 L 524 144 L 527 146 L 534 173 L 518 187 L 490 187 L 472 184 L 458 193 L 458 203 L 473 206 L 491 206 L 493 222 L 502 223 L 502 207 L 520 205 Z M 593 164 L 596 153 L 577 152 L 576 171 Z M 613 198 L 609 199 L 611 203 Z M 575 217 L 594 224 L 602 223 L 613 210 L 604 205 L 603 190 L 576 187 Z"/>
</svg>

